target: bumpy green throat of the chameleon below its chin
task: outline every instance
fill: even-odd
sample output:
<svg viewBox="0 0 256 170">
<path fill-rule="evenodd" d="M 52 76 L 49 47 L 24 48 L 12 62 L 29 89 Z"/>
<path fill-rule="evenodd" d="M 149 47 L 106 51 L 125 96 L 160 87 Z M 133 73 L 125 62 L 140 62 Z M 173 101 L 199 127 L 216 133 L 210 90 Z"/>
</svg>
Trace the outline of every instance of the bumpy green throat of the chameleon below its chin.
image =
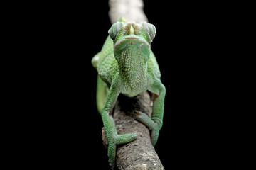
<svg viewBox="0 0 256 170">
<path fill-rule="evenodd" d="M 148 56 L 137 45 L 127 45 L 124 50 L 115 52 L 114 55 L 118 62 L 122 83 L 127 84 L 132 89 L 141 89 L 146 81 Z"/>
</svg>

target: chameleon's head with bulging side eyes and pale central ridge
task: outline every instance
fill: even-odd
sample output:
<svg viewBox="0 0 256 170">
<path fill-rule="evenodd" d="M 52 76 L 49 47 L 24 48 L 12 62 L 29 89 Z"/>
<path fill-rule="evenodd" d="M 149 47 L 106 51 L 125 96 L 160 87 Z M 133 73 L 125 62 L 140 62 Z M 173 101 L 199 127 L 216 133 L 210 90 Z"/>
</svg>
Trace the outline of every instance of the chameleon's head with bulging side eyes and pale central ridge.
<svg viewBox="0 0 256 170">
<path fill-rule="evenodd" d="M 144 54 L 146 61 L 150 55 L 150 44 L 156 35 L 154 25 L 146 22 L 124 23 L 117 22 L 108 31 L 114 42 L 114 55 L 121 54 L 124 50 Z M 117 60 L 118 62 L 118 60 Z"/>
</svg>

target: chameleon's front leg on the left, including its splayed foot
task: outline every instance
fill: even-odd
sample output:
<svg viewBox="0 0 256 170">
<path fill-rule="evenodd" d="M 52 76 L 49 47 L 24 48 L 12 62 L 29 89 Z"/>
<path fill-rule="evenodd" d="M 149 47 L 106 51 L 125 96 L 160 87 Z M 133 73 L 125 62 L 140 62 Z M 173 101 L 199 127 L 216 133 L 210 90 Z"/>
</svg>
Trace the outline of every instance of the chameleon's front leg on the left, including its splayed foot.
<svg viewBox="0 0 256 170">
<path fill-rule="evenodd" d="M 110 91 L 107 94 L 107 101 L 101 113 L 107 142 L 109 143 L 107 155 L 109 157 L 109 162 L 112 169 L 115 166 L 116 145 L 132 142 L 137 138 L 137 135 L 134 133 L 128 133 L 124 135 L 117 134 L 117 129 L 114 125 L 114 119 L 110 114 L 112 113 L 112 109 L 117 101 L 118 95 L 119 90 L 112 84 Z"/>
</svg>

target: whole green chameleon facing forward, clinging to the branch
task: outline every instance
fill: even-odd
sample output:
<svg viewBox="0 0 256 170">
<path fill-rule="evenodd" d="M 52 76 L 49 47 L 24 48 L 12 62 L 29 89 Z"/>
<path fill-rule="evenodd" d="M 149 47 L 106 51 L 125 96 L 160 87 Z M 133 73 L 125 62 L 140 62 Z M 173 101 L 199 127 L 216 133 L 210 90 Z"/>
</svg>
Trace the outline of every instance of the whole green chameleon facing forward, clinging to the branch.
<svg viewBox="0 0 256 170">
<path fill-rule="evenodd" d="M 127 23 L 121 18 L 108 31 L 109 36 L 102 50 L 92 58 L 97 69 L 97 109 L 105 128 L 110 166 L 115 166 L 116 145 L 132 142 L 137 135 L 118 135 L 112 118 L 112 109 L 119 94 L 137 96 L 149 90 L 156 94 L 151 118 L 137 111 L 135 118 L 151 129 L 154 146 L 163 125 L 164 96 L 166 89 L 161 83 L 159 66 L 151 51 L 151 42 L 156 35 L 154 25 L 146 22 Z"/>
</svg>

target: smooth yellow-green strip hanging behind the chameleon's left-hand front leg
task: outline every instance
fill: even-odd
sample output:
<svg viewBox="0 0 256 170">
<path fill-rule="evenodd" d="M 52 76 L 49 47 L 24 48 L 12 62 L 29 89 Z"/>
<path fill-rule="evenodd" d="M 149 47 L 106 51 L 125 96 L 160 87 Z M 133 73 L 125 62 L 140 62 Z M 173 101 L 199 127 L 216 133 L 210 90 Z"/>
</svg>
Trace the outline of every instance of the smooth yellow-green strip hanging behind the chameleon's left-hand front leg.
<svg viewBox="0 0 256 170">
<path fill-rule="evenodd" d="M 105 106 L 106 99 L 107 99 L 107 92 L 109 88 L 107 84 L 97 76 L 97 94 L 96 94 L 96 103 L 97 103 L 97 110 L 101 114 L 103 107 Z"/>
</svg>

